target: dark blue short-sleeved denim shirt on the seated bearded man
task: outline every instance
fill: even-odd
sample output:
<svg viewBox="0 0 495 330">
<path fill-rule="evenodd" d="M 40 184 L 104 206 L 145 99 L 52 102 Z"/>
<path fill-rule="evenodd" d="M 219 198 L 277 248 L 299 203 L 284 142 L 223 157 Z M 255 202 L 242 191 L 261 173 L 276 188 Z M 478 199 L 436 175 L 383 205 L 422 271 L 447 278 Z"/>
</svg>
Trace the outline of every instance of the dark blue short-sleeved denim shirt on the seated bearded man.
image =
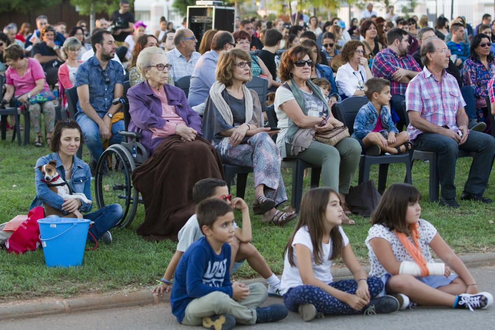
<svg viewBox="0 0 495 330">
<path fill-rule="evenodd" d="M 115 61 L 108 61 L 104 70 L 108 74 L 108 83 L 105 83 L 103 69 L 96 56 L 82 63 L 76 72 L 75 87 L 88 85 L 90 104 L 100 117 L 103 117 L 112 105 L 113 89 L 115 84 L 124 85 L 124 73 L 122 66 Z M 81 103 L 77 101 L 77 115 L 84 113 Z M 76 117 L 77 117 L 76 115 Z"/>
</svg>

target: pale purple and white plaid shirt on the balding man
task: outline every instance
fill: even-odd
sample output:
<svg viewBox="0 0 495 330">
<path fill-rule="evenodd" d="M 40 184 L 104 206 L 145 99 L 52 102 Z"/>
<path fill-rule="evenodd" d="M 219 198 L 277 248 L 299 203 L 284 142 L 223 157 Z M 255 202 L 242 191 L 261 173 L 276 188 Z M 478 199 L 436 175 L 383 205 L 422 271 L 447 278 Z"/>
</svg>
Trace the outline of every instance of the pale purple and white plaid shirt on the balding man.
<svg viewBox="0 0 495 330">
<path fill-rule="evenodd" d="M 407 111 L 421 112 L 421 118 L 438 126 L 446 125 L 454 132 L 459 130 L 455 119 L 457 110 L 466 105 L 453 76 L 444 70 L 439 83 L 426 66 L 409 82 L 405 103 Z M 423 132 L 409 124 L 407 133 L 409 139 L 414 140 Z"/>
</svg>

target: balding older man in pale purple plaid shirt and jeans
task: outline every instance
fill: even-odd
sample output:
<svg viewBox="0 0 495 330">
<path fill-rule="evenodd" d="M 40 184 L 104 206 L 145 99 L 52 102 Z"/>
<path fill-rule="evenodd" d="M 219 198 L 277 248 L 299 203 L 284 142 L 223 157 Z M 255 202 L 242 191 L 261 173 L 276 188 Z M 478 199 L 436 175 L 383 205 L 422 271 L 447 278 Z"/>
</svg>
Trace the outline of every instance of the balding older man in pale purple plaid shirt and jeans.
<svg viewBox="0 0 495 330">
<path fill-rule="evenodd" d="M 469 131 L 468 117 L 464 111 L 464 99 L 455 78 L 445 69 L 450 51 L 436 38 L 421 46 L 423 71 L 411 80 L 405 93 L 410 124 L 407 127 L 415 148 L 438 154 L 442 196 L 440 202 L 447 207 L 458 207 L 455 200 L 455 162 L 459 150 L 474 152 L 473 163 L 462 200 L 491 203 L 483 197 L 487 187 L 495 155 L 495 138 L 491 135 Z"/>
</svg>

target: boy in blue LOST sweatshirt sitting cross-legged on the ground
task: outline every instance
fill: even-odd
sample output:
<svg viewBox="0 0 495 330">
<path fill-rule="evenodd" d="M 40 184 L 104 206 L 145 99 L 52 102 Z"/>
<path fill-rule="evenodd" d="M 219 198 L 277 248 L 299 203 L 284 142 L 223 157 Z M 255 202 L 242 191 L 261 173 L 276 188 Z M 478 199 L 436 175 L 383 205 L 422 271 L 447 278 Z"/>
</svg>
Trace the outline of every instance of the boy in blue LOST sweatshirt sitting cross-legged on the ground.
<svg viewBox="0 0 495 330">
<path fill-rule="evenodd" d="M 267 298 L 262 283 L 230 282 L 234 213 L 224 201 L 209 198 L 196 214 L 204 237 L 193 243 L 177 265 L 170 302 L 172 314 L 183 325 L 232 329 L 237 323 L 275 322 L 287 317 L 280 304 L 258 307 Z"/>
</svg>

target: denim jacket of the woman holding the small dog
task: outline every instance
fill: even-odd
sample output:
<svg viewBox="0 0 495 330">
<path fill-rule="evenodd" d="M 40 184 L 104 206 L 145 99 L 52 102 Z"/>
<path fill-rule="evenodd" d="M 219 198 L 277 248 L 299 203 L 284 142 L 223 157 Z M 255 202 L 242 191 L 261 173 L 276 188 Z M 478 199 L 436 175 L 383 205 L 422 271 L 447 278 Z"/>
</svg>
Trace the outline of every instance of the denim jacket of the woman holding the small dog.
<svg viewBox="0 0 495 330">
<path fill-rule="evenodd" d="M 38 158 L 36 162 L 36 167 L 48 164 L 50 161 L 56 161 L 56 169 L 60 178 L 65 180 L 65 170 L 58 157 L 58 153 L 50 153 L 45 157 Z M 72 175 L 71 175 L 71 183 L 70 186 L 74 192 L 84 192 L 86 197 L 91 200 L 91 170 L 90 167 L 81 159 L 74 156 L 72 162 Z M 55 192 L 51 191 L 46 182 L 41 181 L 43 178 L 43 174 L 41 171 L 36 168 L 35 169 L 35 182 L 36 182 L 36 197 L 31 203 L 29 209 L 32 209 L 35 206 L 42 205 L 42 203 L 47 203 L 49 206 L 61 210 L 62 204 L 64 202 L 63 198 L 57 195 Z M 81 200 L 81 207 L 79 207 L 80 212 L 89 212 L 93 204 L 87 204 Z"/>
</svg>

